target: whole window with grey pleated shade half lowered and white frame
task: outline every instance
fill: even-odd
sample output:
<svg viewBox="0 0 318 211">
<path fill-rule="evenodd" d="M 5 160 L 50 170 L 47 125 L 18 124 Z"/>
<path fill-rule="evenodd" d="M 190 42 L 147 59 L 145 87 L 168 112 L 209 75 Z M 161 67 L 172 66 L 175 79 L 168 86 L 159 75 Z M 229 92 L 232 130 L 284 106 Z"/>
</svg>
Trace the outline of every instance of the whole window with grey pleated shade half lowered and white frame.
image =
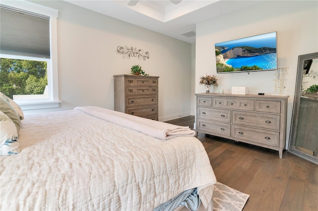
<svg viewBox="0 0 318 211">
<path fill-rule="evenodd" d="M 17 79 L 11 80 L 12 87 L 9 88 L 12 96 L 8 94 L 9 97 L 23 110 L 59 107 L 58 10 L 28 1 L 5 0 L 1 1 L 0 9 L 1 63 L 5 60 L 19 72 L 19 75 L 15 75 Z M 23 68 L 21 64 L 24 64 Z M 27 70 L 26 67 L 33 65 L 36 68 Z M 1 74 L 4 75 L 4 65 L 2 66 Z M 6 74 L 10 71 L 12 76 L 15 73 L 13 69 Z M 3 85 L 2 78 L 0 88 L 8 90 L 8 87 Z M 7 94 L 4 91 L 3 93 Z"/>
</svg>

